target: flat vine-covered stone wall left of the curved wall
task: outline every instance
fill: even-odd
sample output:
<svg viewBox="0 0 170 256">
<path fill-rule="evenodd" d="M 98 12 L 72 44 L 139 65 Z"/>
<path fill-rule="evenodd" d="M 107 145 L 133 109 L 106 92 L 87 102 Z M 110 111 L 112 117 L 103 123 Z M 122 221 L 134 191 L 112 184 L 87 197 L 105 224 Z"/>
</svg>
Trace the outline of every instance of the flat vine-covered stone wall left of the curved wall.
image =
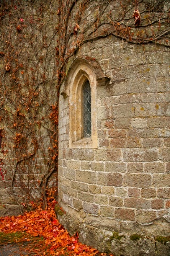
<svg viewBox="0 0 170 256">
<path fill-rule="evenodd" d="M 0 3 L 0 216 L 29 209 L 28 201 L 42 195 L 41 179 L 49 170 L 57 11 L 56 1 Z"/>
</svg>

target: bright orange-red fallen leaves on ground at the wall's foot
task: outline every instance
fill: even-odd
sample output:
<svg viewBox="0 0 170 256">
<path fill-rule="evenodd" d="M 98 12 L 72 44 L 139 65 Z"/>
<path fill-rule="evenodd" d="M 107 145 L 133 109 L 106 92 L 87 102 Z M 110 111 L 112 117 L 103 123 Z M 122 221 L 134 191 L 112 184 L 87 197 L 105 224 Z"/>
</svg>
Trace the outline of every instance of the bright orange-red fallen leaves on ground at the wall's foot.
<svg viewBox="0 0 170 256">
<path fill-rule="evenodd" d="M 23 215 L 0 218 L 0 232 L 22 232 L 12 242 L 28 242 L 27 250 L 33 255 L 73 255 L 93 256 L 99 251 L 78 241 L 78 236 L 69 236 L 67 230 L 59 223 L 54 212 L 56 200 L 48 205 L 46 210 L 41 207 L 25 212 Z M 35 237 L 33 239 L 32 237 Z M 0 237 L 1 240 L 1 237 Z"/>
</svg>

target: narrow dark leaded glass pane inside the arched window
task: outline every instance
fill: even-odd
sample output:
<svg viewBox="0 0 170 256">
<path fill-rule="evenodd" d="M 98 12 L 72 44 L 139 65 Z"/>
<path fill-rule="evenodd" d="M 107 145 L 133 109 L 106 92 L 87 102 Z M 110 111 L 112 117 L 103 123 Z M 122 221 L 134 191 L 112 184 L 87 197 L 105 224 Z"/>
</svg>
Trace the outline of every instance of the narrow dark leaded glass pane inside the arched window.
<svg viewBox="0 0 170 256">
<path fill-rule="evenodd" d="M 91 137 L 91 89 L 88 80 L 83 86 L 83 134 L 84 138 Z"/>
</svg>

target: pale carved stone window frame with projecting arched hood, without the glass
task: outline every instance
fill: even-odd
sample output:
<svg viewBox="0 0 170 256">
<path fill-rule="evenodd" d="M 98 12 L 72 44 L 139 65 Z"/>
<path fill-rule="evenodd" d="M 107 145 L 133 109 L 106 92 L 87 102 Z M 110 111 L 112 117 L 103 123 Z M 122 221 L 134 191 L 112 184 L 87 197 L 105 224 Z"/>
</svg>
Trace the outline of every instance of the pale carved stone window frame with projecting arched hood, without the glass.
<svg viewBox="0 0 170 256">
<path fill-rule="evenodd" d="M 83 94 L 84 82 L 88 80 L 91 87 L 91 138 L 83 138 Z M 69 97 L 69 147 L 97 148 L 97 86 L 109 81 L 99 64 L 91 57 L 76 58 L 69 71 L 60 93 Z"/>
</svg>

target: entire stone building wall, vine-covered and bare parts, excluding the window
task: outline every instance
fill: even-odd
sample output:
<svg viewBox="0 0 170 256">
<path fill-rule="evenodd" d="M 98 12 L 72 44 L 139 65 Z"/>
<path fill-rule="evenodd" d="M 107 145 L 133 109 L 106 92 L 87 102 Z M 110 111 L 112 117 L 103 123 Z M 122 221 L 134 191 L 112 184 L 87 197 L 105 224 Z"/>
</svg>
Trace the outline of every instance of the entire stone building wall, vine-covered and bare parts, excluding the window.
<svg viewBox="0 0 170 256">
<path fill-rule="evenodd" d="M 168 255 L 169 9 L 168 0 L 1 1 L 2 216 L 46 205 L 58 177 L 58 218 L 80 241 Z M 78 57 L 97 77 L 96 148 L 69 144 Z"/>
</svg>

